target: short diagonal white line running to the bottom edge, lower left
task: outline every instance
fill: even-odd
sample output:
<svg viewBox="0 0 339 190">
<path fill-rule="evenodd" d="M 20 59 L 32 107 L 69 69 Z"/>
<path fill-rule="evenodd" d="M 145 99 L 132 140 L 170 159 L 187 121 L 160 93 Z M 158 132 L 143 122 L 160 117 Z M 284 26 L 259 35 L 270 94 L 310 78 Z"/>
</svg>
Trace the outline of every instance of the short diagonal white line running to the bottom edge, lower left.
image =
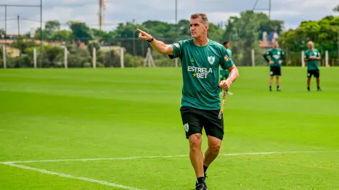
<svg viewBox="0 0 339 190">
<path fill-rule="evenodd" d="M 37 168 L 33 168 L 33 167 L 26 167 L 24 165 L 13 164 L 11 162 L 2 162 L 1 164 L 6 164 L 8 166 L 18 167 L 18 168 L 21 168 L 21 169 L 38 171 L 40 173 L 47 173 L 47 174 L 50 174 L 50 175 L 58 175 L 58 176 L 63 177 L 63 178 L 73 178 L 73 179 L 76 179 L 76 180 L 83 180 L 83 181 L 86 181 L 86 182 L 95 182 L 95 183 L 98 183 L 98 184 L 104 184 L 104 185 L 111 186 L 111 187 L 118 187 L 118 188 L 121 188 L 121 189 L 143 190 L 143 189 L 137 189 L 137 188 L 134 188 L 134 187 L 127 187 L 127 186 L 124 186 L 124 185 L 121 185 L 121 184 L 106 182 L 106 181 L 102 181 L 102 180 L 95 180 L 95 179 L 91 179 L 91 178 L 77 177 L 77 176 L 69 175 L 69 174 L 66 174 L 66 173 L 57 173 L 57 172 L 48 171 L 48 170 L 45 170 L 45 169 L 37 169 Z"/>
</svg>

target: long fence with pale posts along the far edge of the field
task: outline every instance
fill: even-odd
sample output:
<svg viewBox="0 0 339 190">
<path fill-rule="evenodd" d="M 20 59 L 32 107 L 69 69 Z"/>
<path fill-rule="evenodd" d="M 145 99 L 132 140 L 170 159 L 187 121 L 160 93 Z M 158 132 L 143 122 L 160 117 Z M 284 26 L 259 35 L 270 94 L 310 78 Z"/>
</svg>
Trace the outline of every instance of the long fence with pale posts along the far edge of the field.
<svg viewBox="0 0 339 190">
<path fill-rule="evenodd" d="M 172 44 L 175 39 L 160 39 Z M 180 59 L 157 53 L 140 39 L 115 39 L 84 43 L 75 39 L 46 39 L 41 48 L 34 39 L 0 39 L 0 68 L 86 68 L 86 67 L 174 67 Z M 268 66 L 262 56 L 271 44 L 260 41 L 231 41 L 232 59 L 237 66 Z M 315 47 L 316 48 L 316 47 Z M 283 49 L 284 50 L 284 49 Z M 305 47 L 306 50 L 306 47 Z M 284 50 L 283 66 L 303 66 L 302 51 Z M 320 66 L 339 66 L 338 52 L 320 51 Z"/>
</svg>

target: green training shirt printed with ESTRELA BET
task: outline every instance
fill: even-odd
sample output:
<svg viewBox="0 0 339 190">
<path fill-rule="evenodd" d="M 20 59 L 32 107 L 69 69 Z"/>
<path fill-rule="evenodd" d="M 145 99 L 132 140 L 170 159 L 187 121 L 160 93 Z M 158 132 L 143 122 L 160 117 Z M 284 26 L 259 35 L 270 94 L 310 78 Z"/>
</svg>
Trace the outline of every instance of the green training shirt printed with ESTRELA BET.
<svg viewBox="0 0 339 190">
<path fill-rule="evenodd" d="M 234 64 L 226 48 L 210 39 L 205 46 L 197 46 L 193 39 L 177 41 L 171 46 L 174 55 L 170 57 L 179 57 L 183 70 L 181 106 L 220 109 L 219 65 L 228 69 Z"/>
</svg>

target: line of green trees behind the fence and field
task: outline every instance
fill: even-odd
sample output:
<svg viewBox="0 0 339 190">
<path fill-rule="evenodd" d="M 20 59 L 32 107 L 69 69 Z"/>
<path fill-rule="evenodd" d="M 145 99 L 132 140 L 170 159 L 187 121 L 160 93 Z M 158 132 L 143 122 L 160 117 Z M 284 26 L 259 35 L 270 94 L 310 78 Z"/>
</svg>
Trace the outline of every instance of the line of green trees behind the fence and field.
<svg viewBox="0 0 339 190">
<path fill-rule="evenodd" d="M 339 11 L 339 6 L 333 11 Z M 182 19 L 177 24 L 163 21 L 148 20 L 143 23 L 118 23 L 115 30 L 102 31 L 91 28 L 80 21 L 68 21 L 69 30 L 62 30 L 57 20 L 47 21 L 44 29 L 38 28 L 33 39 L 47 42 L 62 42 L 68 50 L 68 66 L 89 67 L 91 66 L 92 50 L 97 50 L 98 66 L 116 67 L 120 66 L 120 54 L 115 50 L 100 50 L 100 46 L 121 46 L 125 48 L 125 66 L 142 66 L 143 57 L 146 56 L 149 44 L 138 39 L 136 28 L 145 30 L 156 39 L 165 43 L 174 43 L 180 39 L 190 38 L 190 21 Z M 268 34 L 271 41 L 273 32 L 279 36 L 280 46 L 286 51 L 286 62 L 288 66 L 300 66 L 300 53 L 306 50 L 307 41 L 315 42 L 322 54 L 329 51 L 330 64 L 339 64 L 338 59 L 338 36 L 339 17 L 329 15 L 319 21 L 302 21 L 295 29 L 284 30 L 284 21 L 270 20 L 264 13 L 250 10 L 240 13 L 239 17 L 230 17 L 226 26 L 210 23 L 208 37 L 214 41 L 231 41 L 233 59 L 241 66 L 251 65 L 251 51 L 255 50 L 256 65 L 266 65 L 262 54 L 267 49 L 259 47 L 259 41 L 263 40 L 263 34 Z M 0 35 L 3 29 L 0 29 Z M 39 44 L 35 41 L 27 41 L 30 33 L 19 37 L 10 46 L 20 50 L 19 57 L 8 57 L 9 67 L 31 67 L 33 66 L 33 49 Z M 80 48 L 80 43 L 86 44 L 86 48 Z M 0 50 L 0 62 L 2 50 Z M 174 60 L 165 55 L 152 52 L 157 66 L 174 66 Z M 44 45 L 42 55 L 38 53 L 37 61 L 39 67 L 62 67 L 64 62 L 64 49 L 60 46 Z M 42 56 L 42 57 L 41 57 Z M 337 61 L 337 62 L 336 62 Z"/>
</svg>

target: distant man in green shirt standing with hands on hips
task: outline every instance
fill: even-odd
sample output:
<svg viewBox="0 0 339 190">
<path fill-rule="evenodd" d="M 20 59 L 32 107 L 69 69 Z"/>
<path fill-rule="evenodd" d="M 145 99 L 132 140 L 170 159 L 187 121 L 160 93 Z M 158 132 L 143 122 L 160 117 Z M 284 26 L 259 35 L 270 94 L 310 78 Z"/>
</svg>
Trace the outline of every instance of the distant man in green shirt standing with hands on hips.
<svg viewBox="0 0 339 190">
<path fill-rule="evenodd" d="M 272 91 L 272 82 L 273 82 L 273 77 L 276 77 L 276 82 L 277 82 L 277 91 L 280 90 L 280 76 L 282 75 L 282 61 L 285 59 L 285 54 L 282 51 L 282 49 L 278 48 L 279 44 L 277 41 L 273 42 L 273 48 L 268 50 L 267 53 L 264 54 L 265 60 L 270 64 L 270 91 Z M 267 57 L 270 57 L 268 59 Z"/>
</svg>

